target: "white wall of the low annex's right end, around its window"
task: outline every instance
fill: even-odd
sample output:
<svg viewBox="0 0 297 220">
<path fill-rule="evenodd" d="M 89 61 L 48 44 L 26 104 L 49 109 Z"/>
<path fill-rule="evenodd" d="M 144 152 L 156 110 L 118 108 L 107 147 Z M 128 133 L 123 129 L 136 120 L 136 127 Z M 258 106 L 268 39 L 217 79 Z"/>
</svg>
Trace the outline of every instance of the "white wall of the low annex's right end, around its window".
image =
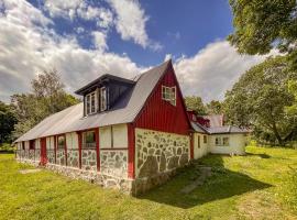
<svg viewBox="0 0 297 220">
<path fill-rule="evenodd" d="M 229 138 L 229 146 L 216 145 L 216 138 Z M 246 136 L 244 134 L 211 134 L 209 136 L 209 152 L 213 154 L 245 154 Z"/>
</svg>

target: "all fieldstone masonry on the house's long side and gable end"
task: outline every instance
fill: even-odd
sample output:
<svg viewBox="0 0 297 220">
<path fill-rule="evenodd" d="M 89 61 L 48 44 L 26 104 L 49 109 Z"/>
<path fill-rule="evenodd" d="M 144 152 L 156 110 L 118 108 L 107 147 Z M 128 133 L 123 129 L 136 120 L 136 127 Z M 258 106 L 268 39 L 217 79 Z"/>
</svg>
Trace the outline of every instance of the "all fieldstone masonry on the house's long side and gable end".
<svg viewBox="0 0 297 220">
<path fill-rule="evenodd" d="M 20 162 L 38 165 L 40 150 L 18 151 Z M 135 129 L 135 179 L 128 178 L 128 150 L 100 151 L 100 172 L 97 170 L 96 148 L 47 150 L 46 168 L 75 179 L 85 179 L 103 187 L 138 195 L 168 180 L 176 168 L 189 161 L 189 136 Z M 67 166 L 66 166 L 67 158 Z"/>
</svg>

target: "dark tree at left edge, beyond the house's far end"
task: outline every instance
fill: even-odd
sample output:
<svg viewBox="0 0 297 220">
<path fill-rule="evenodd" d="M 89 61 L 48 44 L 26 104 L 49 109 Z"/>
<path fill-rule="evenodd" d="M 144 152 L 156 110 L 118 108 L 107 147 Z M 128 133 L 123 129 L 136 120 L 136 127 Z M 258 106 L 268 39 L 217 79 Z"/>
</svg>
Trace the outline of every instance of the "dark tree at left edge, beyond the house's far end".
<svg viewBox="0 0 297 220">
<path fill-rule="evenodd" d="M 16 123 L 13 108 L 0 101 L 0 144 L 12 141 L 11 132 Z"/>
</svg>

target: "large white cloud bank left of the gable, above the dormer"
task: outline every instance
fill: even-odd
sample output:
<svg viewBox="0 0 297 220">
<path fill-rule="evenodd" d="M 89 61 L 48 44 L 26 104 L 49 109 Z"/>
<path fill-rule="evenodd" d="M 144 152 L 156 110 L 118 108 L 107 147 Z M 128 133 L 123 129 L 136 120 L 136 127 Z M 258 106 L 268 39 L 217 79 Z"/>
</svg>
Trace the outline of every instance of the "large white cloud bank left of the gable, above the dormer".
<svg viewBox="0 0 297 220">
<path fill-rule="evenodd" d="M 100 37 L 100 50 L 84 50 L 72 36 L 62 37 L 50 28 L 35 26 L 51 20 L 33 18 L 24 9 L 37 10 L 19 1 L 18 7 L 6 8 L 6 14 L 0 16 L 0 100 L 9 101 L 10 95 L 30 91 L 35 75 L 53 67 L 61 73 L 69 92 L 106 73 L 128 78 L 140 73 L 141 68 L 129 57 L 102 51 L 107 45 Z"/>
</svg>

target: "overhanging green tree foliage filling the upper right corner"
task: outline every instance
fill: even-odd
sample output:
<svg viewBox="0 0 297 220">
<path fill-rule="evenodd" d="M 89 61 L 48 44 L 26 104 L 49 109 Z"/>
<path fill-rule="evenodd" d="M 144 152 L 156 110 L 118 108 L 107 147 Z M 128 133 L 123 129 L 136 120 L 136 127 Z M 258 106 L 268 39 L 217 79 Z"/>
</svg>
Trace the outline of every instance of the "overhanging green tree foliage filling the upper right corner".
<svg viewBox="0 0 297 220">
<path fill-rule="evenodd" d="M 297 1 L 229 0 L 234 32 L 229 42 L 244 54 L 267 54 L 275 46 L 297 69 Z"/>
</svg>

